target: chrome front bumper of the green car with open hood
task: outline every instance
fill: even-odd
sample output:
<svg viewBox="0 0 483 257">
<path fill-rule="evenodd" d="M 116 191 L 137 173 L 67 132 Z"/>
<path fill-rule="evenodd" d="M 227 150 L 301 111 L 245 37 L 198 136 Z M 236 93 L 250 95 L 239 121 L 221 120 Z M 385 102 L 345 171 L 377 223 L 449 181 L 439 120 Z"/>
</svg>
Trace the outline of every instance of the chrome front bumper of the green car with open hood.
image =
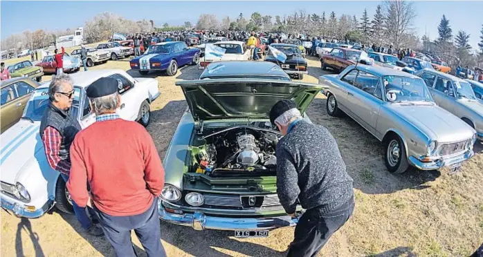
<svg viewBox="0 0 483 257">
<path fill-rule="evenodd" d="M 194 211 L 194 213 L 175 214 L 165 211 L 161 200 L 158 202 L 158 214 L 161 220 L 170 222 L 172 224 L 181 225 L 185 227 L 192 227 L 194 230 L 248 230 L 261 231 L 277 229 L 280 227 L 293 227 L 297 225 L 298 218 L 291 218 L 290 216 L 281 216 L 273 218 L 222 218 L 215 216 L 208 216 L 201 211 Z"/>
</svg>

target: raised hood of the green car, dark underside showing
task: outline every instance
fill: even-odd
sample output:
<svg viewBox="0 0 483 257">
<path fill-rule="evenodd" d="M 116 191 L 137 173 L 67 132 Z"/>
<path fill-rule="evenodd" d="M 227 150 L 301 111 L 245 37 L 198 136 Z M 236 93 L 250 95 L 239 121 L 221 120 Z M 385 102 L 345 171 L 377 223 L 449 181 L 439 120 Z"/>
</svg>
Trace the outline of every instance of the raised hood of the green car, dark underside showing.
<svg viewBox="0 0 483 257">
<path fill-rule="evenodd" d="M 195 120 L 266 118 L 272 106 L 293 99 L 301 113 L 307 109 L 320 84 L 272 79 L 203 79 L 176 82 L 183 88 Z"/>
</svg>

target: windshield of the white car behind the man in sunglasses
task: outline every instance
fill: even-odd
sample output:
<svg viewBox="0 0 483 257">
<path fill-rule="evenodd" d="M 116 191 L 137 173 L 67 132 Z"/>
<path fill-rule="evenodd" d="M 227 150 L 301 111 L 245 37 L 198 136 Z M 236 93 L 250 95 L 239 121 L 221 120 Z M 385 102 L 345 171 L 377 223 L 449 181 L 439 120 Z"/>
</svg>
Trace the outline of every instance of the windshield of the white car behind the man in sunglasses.
<svg viewBox="0 0 483 257">
<path fill-rule="evenodd" d="M 74 100 L 72 102 L 72 117 L 77 119 L 79 111 L 80 88 L 74 87 Z M 25 106 L 23 117 L 28 117 L 35 121 L 42 120 L 44 111 L 49 103 L 48 88 L 39 88 L 34 91 Z"/>
</svg>

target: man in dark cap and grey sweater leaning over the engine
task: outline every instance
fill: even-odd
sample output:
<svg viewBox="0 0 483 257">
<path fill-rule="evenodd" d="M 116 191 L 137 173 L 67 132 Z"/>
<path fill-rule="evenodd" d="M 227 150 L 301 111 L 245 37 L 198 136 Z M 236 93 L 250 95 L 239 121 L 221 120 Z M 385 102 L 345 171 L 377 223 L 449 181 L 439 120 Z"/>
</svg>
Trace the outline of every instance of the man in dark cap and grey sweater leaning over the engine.
<svg viewBox="0 0 483 257">
<path fill-rule="evenodd" d="M 291 100 L 277 102 L 270 120 L 282 139 L 277 153 L 277 194 L 289 216 L 307 209 L 295 227 L 288 256 L 316 256 L 354 211 L 352 178 L 327 128 L 302 119 Z"/>
</svg>

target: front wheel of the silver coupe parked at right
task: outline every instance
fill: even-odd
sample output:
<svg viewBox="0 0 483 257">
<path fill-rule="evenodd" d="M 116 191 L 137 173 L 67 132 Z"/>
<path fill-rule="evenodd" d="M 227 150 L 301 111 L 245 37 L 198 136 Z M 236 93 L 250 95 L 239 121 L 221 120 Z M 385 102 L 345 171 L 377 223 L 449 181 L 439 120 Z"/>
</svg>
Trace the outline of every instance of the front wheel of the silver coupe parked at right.
<svg viewBox="0 0 483 257">
<path fill-rule="evenodd" d="M 390 173 L 404 173 L 408 170 L 409 163 L 406 158 L 405 147 L 401 137 L 393 135 L 384 144 L 384 162 Z"/>
</svg>

